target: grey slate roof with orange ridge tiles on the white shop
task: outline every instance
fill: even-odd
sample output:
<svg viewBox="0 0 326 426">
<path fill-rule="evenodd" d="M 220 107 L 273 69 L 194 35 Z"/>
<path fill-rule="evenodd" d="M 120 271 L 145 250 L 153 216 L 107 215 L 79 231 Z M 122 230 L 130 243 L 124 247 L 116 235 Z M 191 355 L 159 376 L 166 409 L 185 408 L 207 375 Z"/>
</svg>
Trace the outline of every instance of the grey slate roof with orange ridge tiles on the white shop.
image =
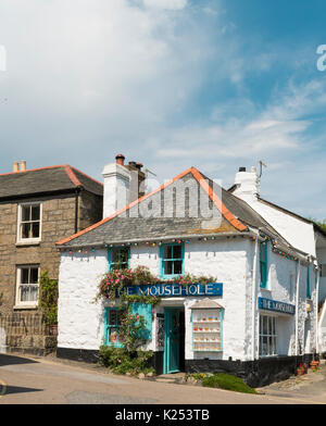
<svg viewBox="0 0 326 426">
<path fill-rule="evenodd" d="M 189 215 L 190 208 L 193 203 L 199 202 L 199 197 L 186 196 L 186 205 L 188 210 L 184 217 L 177 217 L 174 209 L 171 217 L 141 217 L 139 209 L 147 202 L 154 202 L 155 198 L 160 197 L 160 202 L 163 203 L 165 192 L 168 187 L 173 186 L 179 180 L 185 183 L 193 180 L 198 186 L 198 191 L 209 196 L 211 208 L 217 209 L 221 223 L 203 227 L 205 217 L 199 214 L 196 217 Z M 263 217 L 261 217 L 246 202 L 239 200 L 223 188 L 213 186 L 213 181 L 202 175 L 196 167 L 191 167 L 180 175 L 176 176 L 170 183 L 162 185 L 156 190 L 141 197 L 134 201 L 126 208 L 114 213 L 112 216 L 90 226 L 87 229 L 79 231 L 64 240 L 57 242 L 59 247 L 63 248 L 79 248 L 91 246 L 104 246 L 105 243 L 130 242 L 137 240 L 158 240 L 167 238 L 186 238 L 186 236 L 205 236 L 205 235 L 241 235 L 248 234 L 250 227 L 260 228 L 263 233 L 277 238 L 286 247 L 289 247 L 286 240 L 272 228 Z M 220 198 L 218 195 L 222 195 Z M 163 200 L 163 201 L 162 201 Z M 176 200 L 177 202 L 177 200 Z M 162 204 L 163 205 L 163 204 Z"/>
</svg>

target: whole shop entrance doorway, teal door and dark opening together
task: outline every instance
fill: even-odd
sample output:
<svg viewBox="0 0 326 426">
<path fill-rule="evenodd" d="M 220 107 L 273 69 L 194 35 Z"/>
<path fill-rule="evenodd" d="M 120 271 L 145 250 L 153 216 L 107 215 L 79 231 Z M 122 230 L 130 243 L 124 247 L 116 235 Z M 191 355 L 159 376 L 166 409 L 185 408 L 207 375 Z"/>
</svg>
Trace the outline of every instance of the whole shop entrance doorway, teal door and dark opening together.
<svg viewBox="0 0 326 426">
<path fill-rule="evenodd" d="M 164 309 L 164 360 L 163 374 L 185 368 L 185 309 Z"/>
</svg>

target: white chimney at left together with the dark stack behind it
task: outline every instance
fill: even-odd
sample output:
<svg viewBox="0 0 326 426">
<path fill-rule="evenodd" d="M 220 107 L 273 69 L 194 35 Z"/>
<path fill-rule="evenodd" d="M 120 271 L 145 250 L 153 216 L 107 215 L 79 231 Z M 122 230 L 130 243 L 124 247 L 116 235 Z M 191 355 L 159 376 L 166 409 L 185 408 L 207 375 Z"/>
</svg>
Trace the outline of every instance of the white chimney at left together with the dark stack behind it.
<svg viewBox="0 0 326 426">
<path fill-rule="evenodd" d="M 125 156 L 115 156 L 115 163 L 106 164 L 102 175 L 104 179 L 103 218 L 125 208 L 143 195 L 145 173 L 142 164 L 130 161 L 125 164 Z"/>
</svg>

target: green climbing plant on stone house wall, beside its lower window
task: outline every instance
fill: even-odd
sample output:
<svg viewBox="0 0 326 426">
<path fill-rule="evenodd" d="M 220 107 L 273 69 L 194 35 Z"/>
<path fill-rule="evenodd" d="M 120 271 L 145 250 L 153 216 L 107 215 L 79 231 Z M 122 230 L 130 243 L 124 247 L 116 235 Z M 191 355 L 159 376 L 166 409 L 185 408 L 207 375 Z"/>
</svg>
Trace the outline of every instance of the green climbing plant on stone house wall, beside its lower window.
<svg viewBox="0 0 326 426">
<path fill-rule="evenodd" d="M 58 279 L 51 279 L 48 272 L 43 272 L 39 279 L 40 298 L 38 308 L 43 313 L 47 325 L 58 324 Z"/>
</svg>

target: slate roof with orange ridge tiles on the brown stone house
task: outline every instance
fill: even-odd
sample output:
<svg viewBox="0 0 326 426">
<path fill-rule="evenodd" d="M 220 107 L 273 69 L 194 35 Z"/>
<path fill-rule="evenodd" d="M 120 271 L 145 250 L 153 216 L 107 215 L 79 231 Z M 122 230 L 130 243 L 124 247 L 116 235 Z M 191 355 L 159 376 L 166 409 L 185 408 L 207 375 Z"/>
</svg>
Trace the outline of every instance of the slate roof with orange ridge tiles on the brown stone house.
<svg viewBox="0 0 326 426">
<path fill-rule="evenodd" d="M 0 175 L 0 201 L 84 188 L 103 196 L 103 185 L 68 164 Z"/>
</svg>

